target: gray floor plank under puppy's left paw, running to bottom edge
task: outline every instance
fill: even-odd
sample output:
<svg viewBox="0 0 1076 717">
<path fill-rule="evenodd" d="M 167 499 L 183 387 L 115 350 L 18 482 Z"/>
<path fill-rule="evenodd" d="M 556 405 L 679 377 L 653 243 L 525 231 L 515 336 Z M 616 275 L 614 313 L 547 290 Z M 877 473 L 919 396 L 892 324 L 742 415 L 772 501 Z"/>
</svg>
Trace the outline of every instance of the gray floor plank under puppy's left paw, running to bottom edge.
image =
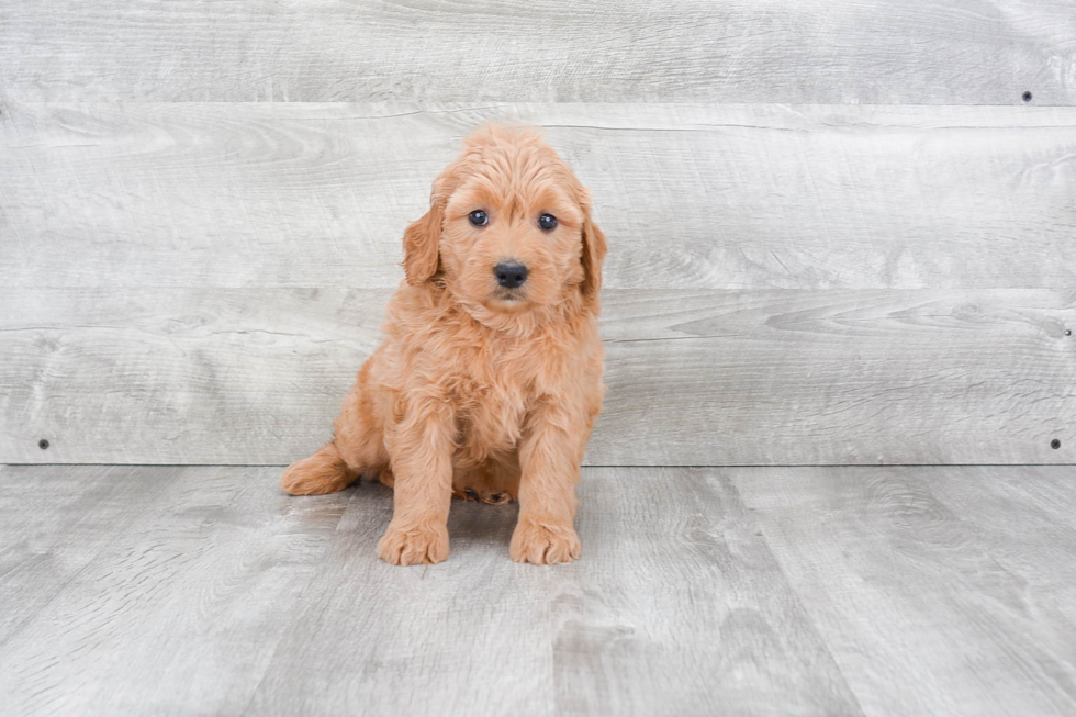
<svg viewBox="0 0 1076 717">
<path fill-rule="evenodd" d="M 550 574 L 508 559 L 516 507 L 453 501 L 449 561 L 410 570 L 374 549 L 392 491 L 350 493 L 248 714 L 554 714 Z"/>
</svg>

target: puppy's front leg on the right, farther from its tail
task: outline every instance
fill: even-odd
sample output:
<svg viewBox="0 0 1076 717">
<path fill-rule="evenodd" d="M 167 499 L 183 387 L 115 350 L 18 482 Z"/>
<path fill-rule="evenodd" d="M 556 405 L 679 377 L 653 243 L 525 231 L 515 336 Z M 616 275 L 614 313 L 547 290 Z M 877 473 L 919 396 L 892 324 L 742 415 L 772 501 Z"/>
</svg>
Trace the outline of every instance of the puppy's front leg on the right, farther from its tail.
<svg viewBox="0 0 1076 717">
<path fill-rule="evenodd" d="M 519 446 L 519 522 L 508 554 L 517 562 L 571 562 L 580 556 L 575 485 L 589 430 L 581 411 L 546 402 L 528 417 Z"/>
</svg>

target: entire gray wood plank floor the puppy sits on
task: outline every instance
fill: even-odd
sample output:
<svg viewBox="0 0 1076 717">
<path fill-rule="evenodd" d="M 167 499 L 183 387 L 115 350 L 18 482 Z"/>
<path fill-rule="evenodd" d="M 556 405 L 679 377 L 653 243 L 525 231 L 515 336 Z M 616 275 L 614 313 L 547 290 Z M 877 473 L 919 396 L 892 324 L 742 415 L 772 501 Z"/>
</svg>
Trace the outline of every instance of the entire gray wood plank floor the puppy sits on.
<svg viewBox="0 0 1076 717">
<path fill-rule="evenodd" d="M 589 468 L 583 559 L 276 468 L 0 468 L 10 715 L 1071 715 L 1076 467 Z"/>
</svg>

